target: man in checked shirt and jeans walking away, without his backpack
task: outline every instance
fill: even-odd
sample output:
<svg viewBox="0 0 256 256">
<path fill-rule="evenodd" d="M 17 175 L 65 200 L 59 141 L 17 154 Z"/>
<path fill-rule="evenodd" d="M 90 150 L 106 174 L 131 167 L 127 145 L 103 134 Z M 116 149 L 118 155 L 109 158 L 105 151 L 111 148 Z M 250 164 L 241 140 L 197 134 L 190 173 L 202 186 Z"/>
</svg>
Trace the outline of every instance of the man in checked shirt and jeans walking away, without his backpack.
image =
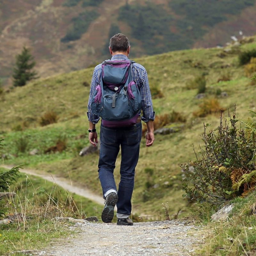
<svg viewBox="0 0 256 256">
<path fill-rule="evenodd" d="M 111 60 L 128 60 L 130 53 L 129 40 L 123 34 L 116 34 L 110 39 L 109 52 Z M 101 65 L 95 67 L 92 75 L 92 84 L 88 102 L 89 119 L 89 141 L 96 147 L 98 135 L 95 124 L 99 121 L 99 116 L 92 113 L 92 95 L 96 85 L 100 84 Z M 134 186 L 135 167 L 139 159 L 141 140 L 141 120 L 146 122 L 148 132 L 146 134 L 146 146 L 150 147 L 154 142 L 153 121 L 155 112 L 153 111 L 148 76 L 145 68 L 140 64 L 131 65 L 132 80 L 137 84 L 141 94 L 143 116 L 138 117 L 136 127 L 134 125 L 126 127 L 100 127 L 100 158 L 98 164 L 99 179 L 102 187 L 103 198 L 106 200 L 105 207 L 101 214 L 103 222 L 111 222 L 114 217 L 114 207 L 117 206 L 117 225 L 133 225 L 129 216 L 132 211 L 132 192 Z M 121 146 L 121 166 L 120 183 L 118 191 L 114 180 L 114 169 L 116 157 Z"/>
</svg>

